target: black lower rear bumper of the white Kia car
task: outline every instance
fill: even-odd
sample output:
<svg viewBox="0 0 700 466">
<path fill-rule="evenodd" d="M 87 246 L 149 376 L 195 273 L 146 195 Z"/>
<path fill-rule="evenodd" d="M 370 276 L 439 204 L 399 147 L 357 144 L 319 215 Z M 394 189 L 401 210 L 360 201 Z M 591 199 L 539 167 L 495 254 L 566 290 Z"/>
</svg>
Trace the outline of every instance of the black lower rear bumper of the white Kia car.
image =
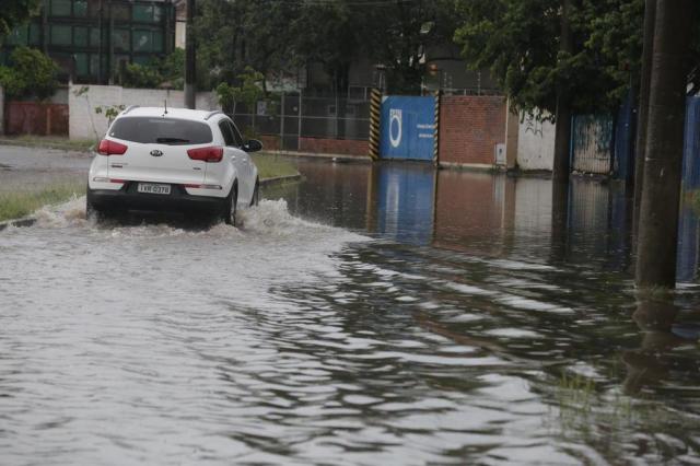
<svg viewBox="0 0 700 466">
<path fill-rule="evenodd" d="M 127 182 L 121 189 L 88 188 L 88 202 L 96 209 L 218 213 L 226 201 L 220 197 L 189 195 L 182 185 L 171 185 L 170 195 L 138 193 L 137 185 Z"/>
</svg>

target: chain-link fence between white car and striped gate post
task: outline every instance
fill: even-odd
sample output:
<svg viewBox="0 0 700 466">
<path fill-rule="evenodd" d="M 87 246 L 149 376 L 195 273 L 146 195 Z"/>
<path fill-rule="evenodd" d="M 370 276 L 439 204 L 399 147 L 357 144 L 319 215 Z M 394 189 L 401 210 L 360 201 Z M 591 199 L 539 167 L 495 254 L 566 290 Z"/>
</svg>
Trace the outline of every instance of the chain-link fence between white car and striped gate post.
<svg viewBox="0 0 700 466">
<path fill-rule="evenodd" d="M 303 138 L 366 141 L 370 136 L 370 102 L 357 98 L 305 97 L 281 94 L 260 101 L 256 108 L 238 103 L 232 118 L 248 137 L 273 137 L 281 150 L 299 150 Z"/>
</svg>

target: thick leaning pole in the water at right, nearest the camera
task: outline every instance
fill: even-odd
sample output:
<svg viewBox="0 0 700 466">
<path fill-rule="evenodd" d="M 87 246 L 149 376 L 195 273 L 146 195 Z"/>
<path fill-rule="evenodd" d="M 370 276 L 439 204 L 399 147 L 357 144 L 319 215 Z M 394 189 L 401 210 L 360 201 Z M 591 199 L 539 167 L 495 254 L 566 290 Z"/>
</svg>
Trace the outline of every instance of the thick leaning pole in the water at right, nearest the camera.
<svg viewBox="0 0 700 466">
<path fill-rule="evenodd" d="M 657 0 L 644 182 L 639 219 L 638 287 L 676 284 L 686 85 L 697 0 Z"/>
</svg>

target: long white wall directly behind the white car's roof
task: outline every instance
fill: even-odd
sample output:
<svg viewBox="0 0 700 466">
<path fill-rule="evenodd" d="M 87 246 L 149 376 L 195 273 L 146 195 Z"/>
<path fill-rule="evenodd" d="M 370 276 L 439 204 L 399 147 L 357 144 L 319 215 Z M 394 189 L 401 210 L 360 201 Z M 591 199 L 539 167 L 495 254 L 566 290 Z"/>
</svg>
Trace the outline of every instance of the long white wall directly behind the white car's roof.
<svg viewBox="0 0 700 466">
<path fill-rule="evenodd" d="M 80 90 L 88 91 L 80 93 Z M 80 94 L 80 95 L 78 95 Z M 125 89 L 119 85 L 71 85 L 68 92 L 70 139 L 100 139 L 107 132 L 107 118 L 95 113 L 95 107 L 114 105 L 139 105 L 141 107 L 161 107 L 167 101 L 168 107 L 184 107 L 183 91 L 161 89 Z M 217 97 L 211 92 L 198 92 L 196 107 L 205 110 L 219 109 Z"/>
</svg>

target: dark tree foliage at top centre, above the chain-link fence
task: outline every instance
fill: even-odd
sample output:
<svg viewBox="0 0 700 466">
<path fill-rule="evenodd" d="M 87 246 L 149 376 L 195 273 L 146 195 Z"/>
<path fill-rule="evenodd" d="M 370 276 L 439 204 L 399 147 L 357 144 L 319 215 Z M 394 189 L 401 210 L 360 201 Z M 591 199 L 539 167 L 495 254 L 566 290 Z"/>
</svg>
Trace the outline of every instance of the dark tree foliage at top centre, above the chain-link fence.
<svg viewBox="0 0 700 466">
<path fill-rule="evenodd" d="M 381 2 L 354 0 L 209 0 L 199 4 L 195 31 L 200 70 L 213 82 L 233 82 L 245 66 L 264 77 L 293 77 L 299 68 L 323 66 L 332 86 L 346 92 L 350 65 L 368 59 L 387 67 L 392 92 L 418 92 L 427 48 L 451 43 L 456 27 L 453 0 Z M 428 27 L 430 26 L 430 27 Z M 262 90 L 267 91 L 262 81 Z"/>
</svg>

